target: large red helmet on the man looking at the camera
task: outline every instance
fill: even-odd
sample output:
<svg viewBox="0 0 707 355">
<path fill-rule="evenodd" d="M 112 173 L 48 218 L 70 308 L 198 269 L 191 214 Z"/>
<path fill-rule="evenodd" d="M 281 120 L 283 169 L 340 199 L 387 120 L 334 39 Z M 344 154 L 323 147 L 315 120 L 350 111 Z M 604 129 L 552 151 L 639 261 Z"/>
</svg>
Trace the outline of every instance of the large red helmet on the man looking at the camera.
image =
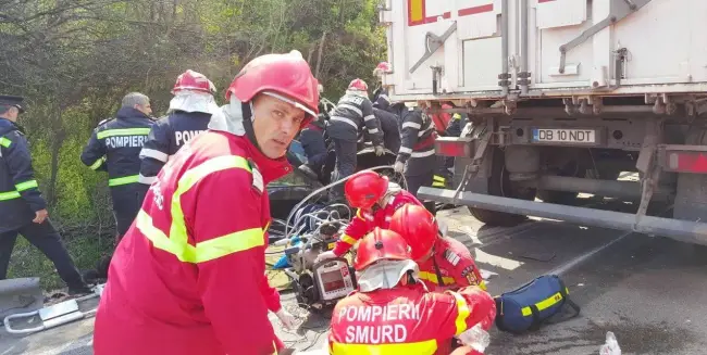
<svg viewBox="0 0 707 355">
<path fill-rule="evenodd" d="M 226 91 L 226 100 L 235 94 L 249 102 L 256 94 L 268 92 L 307 113 L 301 127 L 319 114 L 319 81 L 298 51 L 265 54 L 250 61 L 236 75 Z"/>
</svg>

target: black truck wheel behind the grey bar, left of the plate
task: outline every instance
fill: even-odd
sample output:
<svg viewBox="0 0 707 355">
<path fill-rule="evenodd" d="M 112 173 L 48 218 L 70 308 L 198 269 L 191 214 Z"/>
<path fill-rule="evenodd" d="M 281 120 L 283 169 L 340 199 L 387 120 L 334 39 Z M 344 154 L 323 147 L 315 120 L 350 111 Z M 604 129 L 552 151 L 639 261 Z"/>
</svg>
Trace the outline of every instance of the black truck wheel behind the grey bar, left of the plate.
<svg viewBox="0 0 707 355">
<path fill-rule="evenodd" d="M 495 196 L 533 200 L 535 189 L 522 189 L 513 187 L 508 179 L 504 152 L 494 148 L 491 177 L 488 178 L 488 194 Z M 469 212 L 479 221 L 488 226 L 512 227 L 521 224 L 526 219 L 523 215 L 514 215 L 505 212 L 482 210 L 469 206 Z"/>
</svg>

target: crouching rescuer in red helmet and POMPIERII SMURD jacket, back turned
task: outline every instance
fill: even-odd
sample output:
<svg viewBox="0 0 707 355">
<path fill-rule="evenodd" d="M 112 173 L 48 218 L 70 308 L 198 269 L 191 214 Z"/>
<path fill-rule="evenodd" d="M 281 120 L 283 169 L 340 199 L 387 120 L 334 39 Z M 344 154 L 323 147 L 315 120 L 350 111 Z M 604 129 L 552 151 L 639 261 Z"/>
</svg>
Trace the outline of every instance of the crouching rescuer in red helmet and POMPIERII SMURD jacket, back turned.
<svg viewBox="0 0 707 355">
<path fill-rule="evenodd" d="M 452 338 L 480 324 L 487 330 L 494 300 L 477 287 L 429 292 L 400 234 L 375 228 L 359 245 L 358 290 L 332 313 L 330 354 L 449 354 Z M 470 354 L 479 354 L 468 348 Z"/>
</svg>

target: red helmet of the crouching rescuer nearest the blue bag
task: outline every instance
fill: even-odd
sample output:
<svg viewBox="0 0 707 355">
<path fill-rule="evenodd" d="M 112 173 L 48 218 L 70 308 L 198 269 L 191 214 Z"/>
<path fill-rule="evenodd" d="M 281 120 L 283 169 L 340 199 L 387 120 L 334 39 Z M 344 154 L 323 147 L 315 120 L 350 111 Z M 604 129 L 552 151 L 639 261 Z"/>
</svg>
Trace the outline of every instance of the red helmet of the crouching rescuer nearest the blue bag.
<svg viewBox="0 0 707 355">
<path fill-rule="evenodd" d="M 410 245 L 413 261 L 430 255 L 439 233 L 437 221 L 427 208 L 405 204 L 393 214 L 388 228 L 402 236 Z"/>
</svg>

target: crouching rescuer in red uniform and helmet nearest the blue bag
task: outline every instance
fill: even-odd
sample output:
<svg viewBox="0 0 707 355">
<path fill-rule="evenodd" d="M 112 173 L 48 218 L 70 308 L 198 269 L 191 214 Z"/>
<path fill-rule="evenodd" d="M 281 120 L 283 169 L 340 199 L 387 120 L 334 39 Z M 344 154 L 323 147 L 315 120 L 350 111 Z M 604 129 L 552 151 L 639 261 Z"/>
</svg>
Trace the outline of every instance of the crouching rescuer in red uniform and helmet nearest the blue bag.
<svg viewBox="0 0 707 355">
<path fill-rule="evenodd" d="M 442 236 L 435 217 L 424 207 L 400 207 L 388 228 L 408 242 L 412 259 L 420 266 L 420 280 L 431 291 L 467 286 L 486 290 L 469 249 L 454 238 Z"/>
</svg>

